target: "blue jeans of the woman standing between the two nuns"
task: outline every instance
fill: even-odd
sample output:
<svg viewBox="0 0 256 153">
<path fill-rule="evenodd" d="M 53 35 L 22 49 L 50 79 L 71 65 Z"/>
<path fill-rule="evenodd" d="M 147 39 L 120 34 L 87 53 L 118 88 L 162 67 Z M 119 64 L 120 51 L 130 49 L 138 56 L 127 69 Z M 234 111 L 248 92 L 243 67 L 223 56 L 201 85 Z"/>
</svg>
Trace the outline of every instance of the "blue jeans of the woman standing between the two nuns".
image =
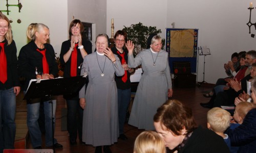
<svg viewBox="0 0 256 153">
<path fill-rule="evenodd" d="M 131 100 L 131 88 L 125 89 L 125 90 L 117 89 L 117 96 L 118 96 L 118 119 L 119 119 L 119 135 L 120 135 L 120 134 L 123 134 L 125 116 Z"/>
</svg>

